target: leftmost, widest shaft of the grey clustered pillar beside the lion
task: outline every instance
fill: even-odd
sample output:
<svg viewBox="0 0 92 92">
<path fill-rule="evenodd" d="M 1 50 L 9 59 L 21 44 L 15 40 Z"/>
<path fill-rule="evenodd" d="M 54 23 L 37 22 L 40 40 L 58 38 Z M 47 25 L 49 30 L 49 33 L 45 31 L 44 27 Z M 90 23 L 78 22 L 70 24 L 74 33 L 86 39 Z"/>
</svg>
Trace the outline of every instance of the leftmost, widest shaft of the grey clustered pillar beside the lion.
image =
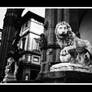
<svg viewBox="0 0 92 92">
<path fill-rule="evenodd" d="M 57 23 L 57 10 L 56 9 L 46 9 L 45 12 L 45 20 L 48 22 L 48 28 L 47 28 L 47 45 L 53 45 L 55 43 L 55 26 Z M 46 65 L 45 65 L 45 73 L 49 72 L 49 66 L 52 62 L 54 62 L 54 52 L 55 50 L 53 48 L 47 49 L 47 58 L 46 58 Z"/>
</svg>

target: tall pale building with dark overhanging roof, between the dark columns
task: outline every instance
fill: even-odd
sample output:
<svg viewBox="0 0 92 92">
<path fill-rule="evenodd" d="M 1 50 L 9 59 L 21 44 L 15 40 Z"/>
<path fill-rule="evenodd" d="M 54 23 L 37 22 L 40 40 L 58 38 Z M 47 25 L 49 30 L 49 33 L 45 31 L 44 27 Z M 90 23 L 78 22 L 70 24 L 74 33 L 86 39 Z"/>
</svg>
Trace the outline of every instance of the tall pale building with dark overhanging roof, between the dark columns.
<svg viewBox="0 0 92 92">
<path fill-rule="evenodd" d="M 35 80 L 40 72 L 41 51 L 39 46 L 40 34 L 44 32 L 44 18 L 32 12 L 27 12 L 22 17 L 22 26 L 18 48 L 25 54 L 20 58 L 23 63 L 22 81 Z"/>
</svg>

